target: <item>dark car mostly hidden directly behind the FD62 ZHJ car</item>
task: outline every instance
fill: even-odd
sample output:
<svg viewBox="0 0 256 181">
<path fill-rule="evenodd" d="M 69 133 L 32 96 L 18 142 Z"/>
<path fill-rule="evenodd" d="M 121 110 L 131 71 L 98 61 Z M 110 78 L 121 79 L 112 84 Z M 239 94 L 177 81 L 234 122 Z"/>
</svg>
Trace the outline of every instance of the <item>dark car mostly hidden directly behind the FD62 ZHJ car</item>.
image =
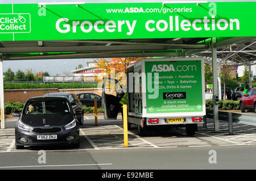
<svg viewBox="0 0 256 181">
<path fill-rule="evenodd" d="M 84 110 L 82 108 L 82 103 L 75 94 L 68 92 L 54 92 L 45 94 L 44 96 L 63 96 L 65 98 L 68 98 L 69 102 L 71 103 L 73 111 L 76 113 L 79 124 L 84 124 Z"/>
</svg>

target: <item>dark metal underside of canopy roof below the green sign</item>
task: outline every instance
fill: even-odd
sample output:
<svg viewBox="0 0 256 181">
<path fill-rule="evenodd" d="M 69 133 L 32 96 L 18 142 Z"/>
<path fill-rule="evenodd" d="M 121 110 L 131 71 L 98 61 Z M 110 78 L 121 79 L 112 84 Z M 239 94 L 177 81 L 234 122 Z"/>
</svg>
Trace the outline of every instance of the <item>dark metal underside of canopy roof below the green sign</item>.
<svg viewBox="0 0 256 181">
<path fill-rule="evenodd" d="M 218 40 L 218 39 L 217 39 Z M 198 43 L 200 42 L 200 43 Z M 211 43 L 205 38 L 0 41 L 2 60 L 47 60 L 63 58 L 112 58 L 156 56 L 210 57 Z M 213 44 L 217 58 L 243 65 L 256 60 L 256 37 L 231 37 Z M 223 50 L 223 47 L 230 47 Z M 232 60 L 232 56 L 238 58 Z"/>
</svg>

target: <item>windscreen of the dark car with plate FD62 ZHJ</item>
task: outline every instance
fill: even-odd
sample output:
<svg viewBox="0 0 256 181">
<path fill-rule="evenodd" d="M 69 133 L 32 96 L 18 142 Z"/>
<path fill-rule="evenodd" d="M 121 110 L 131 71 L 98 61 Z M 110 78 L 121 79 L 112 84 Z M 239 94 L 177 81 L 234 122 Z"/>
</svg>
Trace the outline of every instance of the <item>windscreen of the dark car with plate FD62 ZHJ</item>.
<svg viewBox="0 0 256 181">
<path fill-rule="evenodd" d="M 44 101 L 31 101 L 27 102 L 24 107 L 24 115 L 37 115 L 37 114 L 69 114 L 71 109 L 67 100 L 44 100 Z"/>
</svg>

